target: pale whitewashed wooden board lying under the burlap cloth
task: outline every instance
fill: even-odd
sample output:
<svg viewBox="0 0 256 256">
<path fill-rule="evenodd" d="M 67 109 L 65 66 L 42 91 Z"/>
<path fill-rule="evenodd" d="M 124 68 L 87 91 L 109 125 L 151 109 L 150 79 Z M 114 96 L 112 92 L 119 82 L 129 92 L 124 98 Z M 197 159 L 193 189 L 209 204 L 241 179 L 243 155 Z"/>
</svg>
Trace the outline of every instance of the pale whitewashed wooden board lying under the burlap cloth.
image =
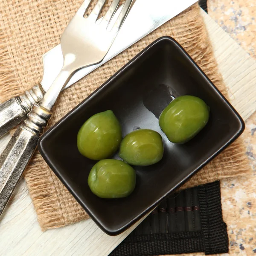
<svg viewBox="0 0 256 256">
<path fill-rule="evenodd" d="M 256 61 L 251 58 L 204 11 L 209 37 L 231 103 L 247 119 L 256 110 Z M 0 152 L 10 135 L 0 139 Z M 29 197 L 20 180 L 11 202 L 0 218 L 0 254 L 13 255 L 108 255 L 135 227 L 119 236 L 103 233 L 90 219 L 42 232 Z"/>
</svg>

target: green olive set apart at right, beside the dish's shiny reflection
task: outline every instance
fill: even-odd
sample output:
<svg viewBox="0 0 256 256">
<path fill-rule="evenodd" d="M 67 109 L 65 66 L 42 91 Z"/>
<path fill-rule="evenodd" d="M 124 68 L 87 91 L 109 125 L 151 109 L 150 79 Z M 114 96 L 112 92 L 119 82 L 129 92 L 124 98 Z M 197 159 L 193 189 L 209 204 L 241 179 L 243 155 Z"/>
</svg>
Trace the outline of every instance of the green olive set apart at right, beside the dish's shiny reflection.
<svg viewBox="0 0 256 256">
<path fill-rule="evenodd" d="M 159 125 L 173 143 L 191 140 L 207 124 L 209 107 L 195 96 L 180 96 L 161 113 Z"/>
</svg>

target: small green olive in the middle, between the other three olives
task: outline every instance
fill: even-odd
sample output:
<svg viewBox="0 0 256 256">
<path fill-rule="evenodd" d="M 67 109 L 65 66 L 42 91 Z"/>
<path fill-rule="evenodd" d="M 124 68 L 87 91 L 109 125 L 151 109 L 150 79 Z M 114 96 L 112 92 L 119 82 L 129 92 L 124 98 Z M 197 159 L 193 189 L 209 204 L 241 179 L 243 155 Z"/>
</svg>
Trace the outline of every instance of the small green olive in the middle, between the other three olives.
<svg viewBox="0 0 256 256">
<path fill-rule="evenodd" d="M 127 134 L 121 144 L 119 157 L 136 166 L 148 166 L 163 157 L 161 135 L 149 129 L 138 129 Z"/>
</svg>

